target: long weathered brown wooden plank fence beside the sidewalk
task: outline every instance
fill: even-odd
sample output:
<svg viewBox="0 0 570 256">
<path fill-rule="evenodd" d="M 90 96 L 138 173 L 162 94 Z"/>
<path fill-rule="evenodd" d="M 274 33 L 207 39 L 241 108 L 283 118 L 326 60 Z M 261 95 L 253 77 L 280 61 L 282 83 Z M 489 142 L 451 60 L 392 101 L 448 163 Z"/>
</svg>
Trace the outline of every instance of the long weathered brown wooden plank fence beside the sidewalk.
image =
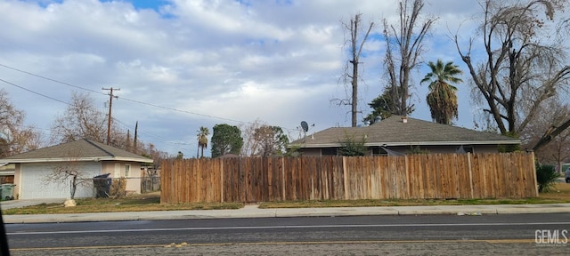
<svg viewBox="0 0 570 256">
<path fill-rule="evenodd" d="M 204 158 L 161 168 L 167 204 L 538 196 L 533 153 Z"/>
</svg>

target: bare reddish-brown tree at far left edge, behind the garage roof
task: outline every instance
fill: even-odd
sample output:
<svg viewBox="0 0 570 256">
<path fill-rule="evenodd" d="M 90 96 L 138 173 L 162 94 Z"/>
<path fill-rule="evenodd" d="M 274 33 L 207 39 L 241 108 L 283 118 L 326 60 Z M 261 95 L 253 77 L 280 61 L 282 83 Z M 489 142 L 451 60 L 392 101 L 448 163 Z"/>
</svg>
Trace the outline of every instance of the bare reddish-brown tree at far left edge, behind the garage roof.
<svg viewBox="0 0 570 256">
<path fill-rule="evenodd" d="M 41 146 L 33 126 L 24 126 L 24 112 L 15 108 L 8 92 L 0 89 L 0 157 L 20 154 Z"/>
</svg>

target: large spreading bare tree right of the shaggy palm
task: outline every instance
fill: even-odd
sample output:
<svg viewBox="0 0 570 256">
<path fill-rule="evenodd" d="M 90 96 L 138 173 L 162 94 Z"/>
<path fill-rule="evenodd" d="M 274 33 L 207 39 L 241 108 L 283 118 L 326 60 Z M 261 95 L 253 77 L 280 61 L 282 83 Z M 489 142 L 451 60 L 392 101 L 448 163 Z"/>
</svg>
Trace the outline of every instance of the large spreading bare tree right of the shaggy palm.
<svg viewBox="0 0 570 256">
<path fill-rule="evenodd" d="M 485 0 L 481 36 L 477 36 L 482 40 L 472 38 L 465 52 L 455 36 L 485 114 L 492 116 L 501 134 L 518 137 L 540 115 L 542 103 L 565 90 L 570 66 L 564 65 L 562 38 L 555 36 L 554 14 L 563 12 L 567 4 L 567 0 Z M 471 51 L 478 42 L 485 58 L 474 60 Z M 556 128 L 544 133 L 535 150 L 566 130 L 570 119 L 553 125 Z"/>
</svg>

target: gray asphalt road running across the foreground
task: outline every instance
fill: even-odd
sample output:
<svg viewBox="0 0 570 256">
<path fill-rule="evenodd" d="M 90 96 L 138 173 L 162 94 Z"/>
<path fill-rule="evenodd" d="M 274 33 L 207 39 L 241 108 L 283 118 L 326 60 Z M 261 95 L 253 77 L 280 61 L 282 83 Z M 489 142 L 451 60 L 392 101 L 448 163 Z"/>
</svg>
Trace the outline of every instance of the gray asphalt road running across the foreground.
<svg viewBox="0 0 570 256">
<path fill-rule="evenodd" d="M 9 224 L 6 232 L 12 255 L 570 252 L 570 213 Z"/>
</svg>

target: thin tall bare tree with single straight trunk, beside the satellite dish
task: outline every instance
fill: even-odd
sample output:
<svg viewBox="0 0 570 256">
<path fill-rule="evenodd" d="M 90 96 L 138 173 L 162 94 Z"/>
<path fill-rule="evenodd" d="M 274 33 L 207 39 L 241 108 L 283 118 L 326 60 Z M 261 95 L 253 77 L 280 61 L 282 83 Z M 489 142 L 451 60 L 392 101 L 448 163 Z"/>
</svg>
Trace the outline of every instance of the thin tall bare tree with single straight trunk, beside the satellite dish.
<svg viewBox="0 0 570 256">
<path fill-rule="evenodd" d="M 349 44 L 350 45 L 350 54 L 351 54 L 351 60 L 348 60 L 346 62 L 346 66 L 345 66 L 345 73 L 341 76 L 341 80 L 344 82 L 344 84 L 349 84 L 351 86 L 351 90 L 352 90 L 352 96 L 350 97 L 350 100 L 345 99 L 345 100 L 341 100 L 341 99 L 334 99 L 331 100 L 333 102 L 338 103 L 338 105 L 351 105 L 351 114 L 352 114 L 352 127 L 356 127 L 356 122 L 357 122 L 357 114 L 358 114 L 358 81 L 359 81 L 359 74 L 358 74 L 358 65 L 361 63 L 360 62 L 360 57 L 362 55 L 362 47 L 364 46 L 364 43 L 366 43 L 366 39 L 368 39 L 368 36 L 371 33 L 372 27 L 374 27 L 374 22 L 371 22 L 370 25 L 368 26 L 368 29 L 365 30 L 366 32 L 363 33 L 364 36 L 362 36 L 362 28 L 360 28 L 361 25 L 361 16 L 362 13 L 358 13 L 356 15 L 354 15 L 354 19 L 350 19 L 350 24 L 346 24 L 344 22 L 341 21 L 342 26 L 345 28 L 345 32 L 348 32 L 350 34 L 350 39 L 346 40 L 345 45 Z M 358 43 L 359 40 L 362 40 L 360 43 Z M 352 72 L 350 71 L 350 69 L 352 69 Z"/>
</svg>

